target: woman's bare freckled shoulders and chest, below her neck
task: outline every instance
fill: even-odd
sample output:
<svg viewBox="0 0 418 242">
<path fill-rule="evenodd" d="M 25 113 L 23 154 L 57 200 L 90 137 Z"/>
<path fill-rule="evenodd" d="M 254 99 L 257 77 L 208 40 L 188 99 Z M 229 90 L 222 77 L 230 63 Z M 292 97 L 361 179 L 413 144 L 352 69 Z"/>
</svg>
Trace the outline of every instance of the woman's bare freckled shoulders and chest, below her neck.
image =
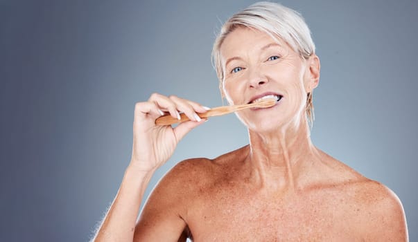
<svg viewBox="0 0 418 242">
<path fill-rule="evenodd" d="M 249 150 L 180 162 L 155 190 L 171 192 L 154 192 L 146 210 L 177 214 L 193 241 L 406 241 L 401 205 L 387 187 L 322 152 L 322 162 L 306 166 L 315 176 L 295 191 L 263 187 L 251 182 Z"/>
</svg>

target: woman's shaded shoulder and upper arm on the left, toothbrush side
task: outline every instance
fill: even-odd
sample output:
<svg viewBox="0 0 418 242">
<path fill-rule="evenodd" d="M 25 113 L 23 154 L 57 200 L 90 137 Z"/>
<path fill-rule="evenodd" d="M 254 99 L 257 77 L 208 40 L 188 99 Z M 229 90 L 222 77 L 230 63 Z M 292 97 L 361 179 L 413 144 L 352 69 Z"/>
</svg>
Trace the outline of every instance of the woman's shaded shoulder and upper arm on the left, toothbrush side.
<svg viewBox="0 0 418 242">
<path fill-rule="evenodd" d="M 185 238 L 189 207 L 208 182 L 213 161 L 193 158 L 179 162 L 159 180 L 148 197 L 135 229 L 137 241 L 168 241 Z M 177 241 L 177 240 L 176 240 Z"/>
</svg>

